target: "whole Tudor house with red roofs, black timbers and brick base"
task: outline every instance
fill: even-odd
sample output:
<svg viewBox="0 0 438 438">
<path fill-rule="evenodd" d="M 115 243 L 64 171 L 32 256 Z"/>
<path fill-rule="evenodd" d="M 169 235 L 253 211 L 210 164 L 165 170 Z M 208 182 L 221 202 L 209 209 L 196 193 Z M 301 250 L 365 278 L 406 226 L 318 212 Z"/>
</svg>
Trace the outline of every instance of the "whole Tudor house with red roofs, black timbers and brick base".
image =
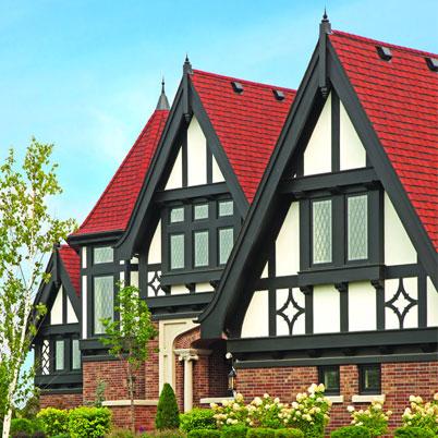
<svg viewBox="0 0 438 438">
<path fill-rule="evenodd" d="M 117 284 L 138 285 L 157 353 L 138 372 L 137 427 L 160 388 L 181 409 L 234 389 L 290 401 L 321 381 L 348 404 L 438 388 L 438 56 L 323 19 L 293 89 L 193 70 L 156 111 L 37 302 L 41 404 L 93 402 L 123 425 L 123 364 L 100 343 Z M 231 353 L 231 354 L 227 354 Z M 227 357 L 228 358 L 227 358 Z M 231 360 L 230 360 L 231 357 Z M 228 374 L 235 368 L 234 387 Z"/>
</svg>

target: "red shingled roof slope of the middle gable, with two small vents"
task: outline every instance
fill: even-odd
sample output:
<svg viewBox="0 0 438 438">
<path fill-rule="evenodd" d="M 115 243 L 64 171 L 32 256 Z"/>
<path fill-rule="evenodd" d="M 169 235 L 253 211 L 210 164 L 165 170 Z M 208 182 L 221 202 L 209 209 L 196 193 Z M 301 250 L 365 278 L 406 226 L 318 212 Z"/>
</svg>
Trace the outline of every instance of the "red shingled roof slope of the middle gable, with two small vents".
<svg viewBox="0 0 438 438">
<path fill-rule="evenodd" d="M 192 81 L 251 203 L 268 165 L 295 90 L 194 70 Z M 233 90 L 231 82 L 243 85 Z M 284 100 L 273 92 L 281 90 Z"/>
</svg>

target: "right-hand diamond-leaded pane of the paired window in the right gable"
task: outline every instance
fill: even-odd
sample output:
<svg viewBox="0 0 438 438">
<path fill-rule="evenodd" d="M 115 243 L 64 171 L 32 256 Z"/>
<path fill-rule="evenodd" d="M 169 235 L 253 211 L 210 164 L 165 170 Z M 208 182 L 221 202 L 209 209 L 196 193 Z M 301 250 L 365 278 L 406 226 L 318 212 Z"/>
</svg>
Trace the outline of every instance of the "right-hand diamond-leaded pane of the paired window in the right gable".
<svg viewBox="0 0 438 438">
<path fill-rule="evenodd" d="M 348 198 L 348 245 L 349 260 L 368 258 L 368 197 Z"/>
</svg>

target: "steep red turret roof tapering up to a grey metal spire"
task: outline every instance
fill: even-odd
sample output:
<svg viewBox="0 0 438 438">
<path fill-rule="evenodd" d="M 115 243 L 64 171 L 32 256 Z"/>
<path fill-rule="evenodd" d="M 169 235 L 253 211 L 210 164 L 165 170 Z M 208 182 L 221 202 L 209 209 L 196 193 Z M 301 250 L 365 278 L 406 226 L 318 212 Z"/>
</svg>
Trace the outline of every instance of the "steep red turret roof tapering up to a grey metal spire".
<svg viewBox="0 0 438 438">
<path fill-rule="evenodd" d="M 99 200 L 73 235 L 126 228 L 168 114 L 168 110 L 155 110 Z"/>
</svg>

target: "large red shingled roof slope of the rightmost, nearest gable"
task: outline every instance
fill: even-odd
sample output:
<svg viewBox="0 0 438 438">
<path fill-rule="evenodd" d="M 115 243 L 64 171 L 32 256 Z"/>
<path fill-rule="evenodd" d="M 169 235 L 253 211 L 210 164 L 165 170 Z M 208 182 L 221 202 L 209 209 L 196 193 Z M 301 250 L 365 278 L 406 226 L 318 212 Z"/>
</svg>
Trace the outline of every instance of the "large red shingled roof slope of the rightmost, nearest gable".
<svg viewBox="0 0 438 438">
<path fill-rule="evenodd" d="M 330 41 L 426 232 L 438 251 L 437 54 L 334 31 Z M 381 60 L 376 46 L 391 49 Z"/>
</svg>

